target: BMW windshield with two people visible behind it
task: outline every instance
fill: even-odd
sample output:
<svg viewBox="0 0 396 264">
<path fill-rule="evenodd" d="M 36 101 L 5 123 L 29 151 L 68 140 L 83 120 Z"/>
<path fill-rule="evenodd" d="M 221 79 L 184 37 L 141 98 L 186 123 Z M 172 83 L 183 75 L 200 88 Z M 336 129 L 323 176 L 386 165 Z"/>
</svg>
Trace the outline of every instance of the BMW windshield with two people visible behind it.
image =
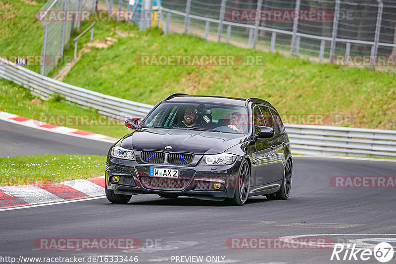
<svg viewBox="0 0 396 264">
<path fill-rule="evenodd" d="M 247 133 L 247 107 L 223 104 L 161 103 L 142 127 Z"/>
</svg>

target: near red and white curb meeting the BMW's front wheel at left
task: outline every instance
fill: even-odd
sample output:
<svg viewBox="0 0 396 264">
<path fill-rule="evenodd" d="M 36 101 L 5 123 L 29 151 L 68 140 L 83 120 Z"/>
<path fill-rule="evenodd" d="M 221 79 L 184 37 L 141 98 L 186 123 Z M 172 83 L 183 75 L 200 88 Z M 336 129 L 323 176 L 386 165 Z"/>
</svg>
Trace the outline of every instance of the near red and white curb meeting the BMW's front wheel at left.
<svg viewBox="0 0 396 264">
<path fill-rule="evenodd" d="M 0 208 L 64 202 L 104 195 L 104 176 L 60 183 L 0 186 Z"/>
</svg>

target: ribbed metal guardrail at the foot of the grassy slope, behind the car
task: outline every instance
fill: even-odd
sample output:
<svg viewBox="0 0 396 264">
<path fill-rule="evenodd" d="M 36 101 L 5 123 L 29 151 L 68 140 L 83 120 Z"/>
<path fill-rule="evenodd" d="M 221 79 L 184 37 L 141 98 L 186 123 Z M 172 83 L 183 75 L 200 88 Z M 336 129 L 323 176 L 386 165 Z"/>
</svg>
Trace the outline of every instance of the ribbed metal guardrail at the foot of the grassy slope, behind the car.
<svg viewBox="0 0 396 264">
<path fill-rule="evenodd" d="M 0 58 L 0 78 L 49 98 L 57 92 L 69 102 L 98 109 L 105 115 L 144 117 L 152 105 L 105 95 L 42 76 Z M 376 156 L 396 158 L 396 131 L 328 126 L 285 125 L 292 152 L 308 155 Z"/>
</svg>

